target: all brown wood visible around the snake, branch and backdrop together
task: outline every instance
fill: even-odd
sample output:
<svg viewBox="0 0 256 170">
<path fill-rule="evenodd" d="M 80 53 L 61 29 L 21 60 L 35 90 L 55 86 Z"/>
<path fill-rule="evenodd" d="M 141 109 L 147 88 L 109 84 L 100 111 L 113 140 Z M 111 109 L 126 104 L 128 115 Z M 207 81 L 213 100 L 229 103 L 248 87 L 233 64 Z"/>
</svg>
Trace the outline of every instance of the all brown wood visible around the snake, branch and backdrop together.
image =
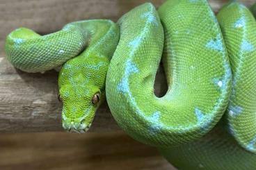
<svg viewBox="0 0 256 170">
<path fill-rule="evenodd" d="M 155 6 L 164 0 L 150 1 Z M 255 0 L 243 0 L 247 6 Z M 0 169 L 173 169 L 156 148 L 140 144 L 115 124 L 102 105 L 86 134 L 61 128 L 58 73 L 26 74 L 6 60 L 4 42 L 15 28 L 45 35 L 68 22 L 112 19 L 146 0 L 0 0 Z M 209 0 L 216 12 L 226 3 Z M 156 94 L 164 94 L 162 69 Z"/>
</svg>

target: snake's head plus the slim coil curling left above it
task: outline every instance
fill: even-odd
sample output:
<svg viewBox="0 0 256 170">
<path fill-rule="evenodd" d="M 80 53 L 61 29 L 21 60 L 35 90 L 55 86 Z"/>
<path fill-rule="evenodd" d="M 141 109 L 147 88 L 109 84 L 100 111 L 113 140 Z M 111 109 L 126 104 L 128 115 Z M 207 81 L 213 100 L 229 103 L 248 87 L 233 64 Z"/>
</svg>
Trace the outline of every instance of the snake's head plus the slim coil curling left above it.
<svg viewBox="0 0 256 170">
<path fill-rule="evenodd" d="M 58 77 L 63 128 L 83 133 L 104 101 L 106 71 L 118 40 L 118 26 L 103 19 L 72 22 L 43 36 L 18 28 L 6 39 L 6 54 L 15 67 L 26 72 L 63 65 Z"/>
</svg>

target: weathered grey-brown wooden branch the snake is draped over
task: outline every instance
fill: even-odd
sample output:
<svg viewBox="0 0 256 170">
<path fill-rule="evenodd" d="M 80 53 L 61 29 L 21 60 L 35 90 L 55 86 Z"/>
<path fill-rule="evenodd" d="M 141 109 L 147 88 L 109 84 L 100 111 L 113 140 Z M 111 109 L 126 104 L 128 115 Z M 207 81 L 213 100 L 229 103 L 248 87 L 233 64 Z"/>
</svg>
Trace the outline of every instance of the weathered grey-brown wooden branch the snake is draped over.
<svg viewBox="0 0 256 170">
<path fill-rule="evenodd" d="M 163 71 L 157 82 L 164 82 Z M 0 132 L 62 130 L 58 101 L 58 73 L 27 74 L 0 60 Z M 156 93 L 166 87 L 157 85 Z M 106 102 L 99 108 L 91 131 L 118 130 Z"/>
</svg>

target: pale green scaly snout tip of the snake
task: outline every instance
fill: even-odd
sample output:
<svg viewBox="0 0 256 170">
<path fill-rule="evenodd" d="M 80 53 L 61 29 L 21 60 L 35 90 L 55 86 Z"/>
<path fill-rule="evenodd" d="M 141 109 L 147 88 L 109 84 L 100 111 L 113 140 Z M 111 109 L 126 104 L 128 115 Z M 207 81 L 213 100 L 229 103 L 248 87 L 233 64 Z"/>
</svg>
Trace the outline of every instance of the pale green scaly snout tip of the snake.
<svg viewBox="0 0 256 170">
<path fill-rule="evenodd" d="M 63 128 L 69 133 L 86 133 L 90 128 L 90 124 L 86 124 L 84 121 L 63 121 Z"/>
</svg>

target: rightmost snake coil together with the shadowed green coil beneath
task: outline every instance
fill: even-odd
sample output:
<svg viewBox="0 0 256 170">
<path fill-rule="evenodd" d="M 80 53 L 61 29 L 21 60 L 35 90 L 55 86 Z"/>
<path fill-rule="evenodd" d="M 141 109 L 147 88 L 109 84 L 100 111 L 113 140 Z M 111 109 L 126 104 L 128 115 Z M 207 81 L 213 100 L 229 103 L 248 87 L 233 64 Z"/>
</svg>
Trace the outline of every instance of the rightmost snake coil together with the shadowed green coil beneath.
<svg viewBox="0 0 256 170">
<path fill-rule="evenodd" d="M 252 11 L 255 12 L 255 6 Z M 187 144 L 159 151 L 177 169 L 256 169 L 256 22 L 248 8 L 234 2 L 217 15 L 232 68 L 232 94 L 223 121 Z"/>
</svg>

